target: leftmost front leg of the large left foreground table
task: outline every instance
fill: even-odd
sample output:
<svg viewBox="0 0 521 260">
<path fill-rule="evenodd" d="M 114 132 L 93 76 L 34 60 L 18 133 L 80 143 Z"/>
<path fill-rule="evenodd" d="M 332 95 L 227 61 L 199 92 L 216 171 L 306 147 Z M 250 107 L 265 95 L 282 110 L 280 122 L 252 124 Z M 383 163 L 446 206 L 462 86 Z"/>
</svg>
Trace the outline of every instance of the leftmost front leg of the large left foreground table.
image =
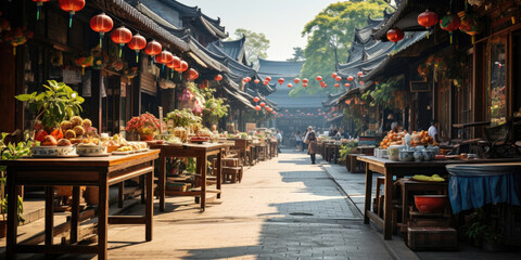
<svg viewBox="0 0 521 260">
<path fill-rule="evenodd" d="M 18 197 L 18 188 L 14 184 L 14 177 L 16 172 L 8 170 L 8 205 L 16 205 Z M 7 249 L 5 249 L 5 259 L 15 259 L 16 251 L 14 246 L 16 245 L 17 236 L 17 207 L 8 207 L 8 237 L 7 237 Z"/>
</svg>

